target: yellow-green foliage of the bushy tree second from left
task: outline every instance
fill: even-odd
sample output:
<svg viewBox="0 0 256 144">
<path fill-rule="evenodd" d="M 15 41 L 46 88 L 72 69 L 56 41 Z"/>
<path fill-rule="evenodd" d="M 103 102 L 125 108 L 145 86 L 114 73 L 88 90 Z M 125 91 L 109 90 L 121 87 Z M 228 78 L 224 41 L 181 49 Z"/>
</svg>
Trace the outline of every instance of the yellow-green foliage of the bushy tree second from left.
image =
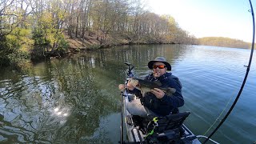
<svg viewBox="0 0 256 144">
<path fill-rule="evenodd" d="M 59 25 L 66 18 L 66 12 L 54 5 L 56 3 L 51 3 L 51 11 L 43 10 L 35 17 L 37 22 L 33 31 L 33 58 L 54 56 L 56 53 L 64 54 L 67 51 L 68 43 Z"/>
</svg>

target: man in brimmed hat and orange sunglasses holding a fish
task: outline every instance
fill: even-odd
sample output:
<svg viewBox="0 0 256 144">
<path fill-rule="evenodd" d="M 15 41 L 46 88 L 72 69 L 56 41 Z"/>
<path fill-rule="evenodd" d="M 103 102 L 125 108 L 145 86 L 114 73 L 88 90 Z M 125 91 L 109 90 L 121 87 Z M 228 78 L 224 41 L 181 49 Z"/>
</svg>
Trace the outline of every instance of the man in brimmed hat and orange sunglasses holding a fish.
<svg viewBox="0 0 256 144">
<path fill-rule="evenodd" d="M 178 107 L 184 105 L 182 84 L 177 77 L 166 72 L 166 70 L 171 70 L 170 63 L 166 62 L 166 58 L 157 57 L 154 58 L 154 61 L 148 62 L 148 67 L 153 70 L 153 74 L 146 76 L 145 80 L 150 82 L 159 81 L 162 83 L 162 87 L 172 87 L 176 91 L 173 95 L 167 95 L 164 91 L 154 88 L 141 99 L 135 99 L 127 103 L 127 110 L 130 114 L 143 118 L 148 114 L 166 116 L 168 114 L 178 113 Z M 134 94 L 138 92 L 130 82 L 126 86 L 130 93 Z M 119 89 L 124 89 L 124 86 L 119 85 Z"/>
</svg>

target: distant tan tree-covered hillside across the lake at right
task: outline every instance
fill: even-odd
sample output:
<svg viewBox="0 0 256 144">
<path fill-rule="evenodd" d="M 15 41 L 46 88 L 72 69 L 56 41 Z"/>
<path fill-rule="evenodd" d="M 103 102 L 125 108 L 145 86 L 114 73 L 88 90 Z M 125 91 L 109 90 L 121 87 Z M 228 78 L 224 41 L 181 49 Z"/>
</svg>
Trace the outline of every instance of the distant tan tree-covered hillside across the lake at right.
<svg viewBox="0 0 256 144">
<path fill-rule="evenodd" d="M 223 37 L 204 37 L 198 38 L 199 45 L 206 46 L 224 46 L 224 47 L 236 47 L 250 49 L 250 42 L 244 42 L 239 39 L 223 38 Z"/>
</svg>

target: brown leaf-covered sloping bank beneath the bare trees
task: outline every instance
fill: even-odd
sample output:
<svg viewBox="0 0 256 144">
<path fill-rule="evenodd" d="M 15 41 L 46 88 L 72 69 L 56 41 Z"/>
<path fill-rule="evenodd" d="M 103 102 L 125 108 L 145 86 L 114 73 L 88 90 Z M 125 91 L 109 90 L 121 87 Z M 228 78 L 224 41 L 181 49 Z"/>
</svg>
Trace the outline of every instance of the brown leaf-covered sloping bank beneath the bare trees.
<svg viewBox="0 0 256 144">
<path fill-rule="evenodd" d="M 66 42 L 69 44 L 67 53 L 79 52 L 82 50 L 98 50 L 122 45 L 145 45 L 145 44 L 178 44 L 178 42 L 165 42 L 164 38 L 154 38 L 152 36 L 142 36 L 132 38 L 131 35 L 108 34 L 106 38 L 101 38 L 97 34 L 86 34 L 85 38 L 75 38 L 64 34 Z"/>
</svg>

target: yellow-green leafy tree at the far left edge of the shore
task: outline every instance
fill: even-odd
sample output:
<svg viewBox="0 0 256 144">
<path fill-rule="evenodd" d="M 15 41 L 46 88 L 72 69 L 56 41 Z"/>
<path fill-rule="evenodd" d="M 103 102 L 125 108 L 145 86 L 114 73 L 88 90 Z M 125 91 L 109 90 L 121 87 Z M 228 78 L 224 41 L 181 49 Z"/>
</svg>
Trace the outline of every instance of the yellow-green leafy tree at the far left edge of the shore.
<svg viewBox="0 0 256 144">
<path fill-rule="evenodd" d="M 26 27 L 31 14 L 30 2 L 26 0 L 2 0 L 0 2 L 0 66 L 18 64 L 28 59 L 32 41 Z"/>
</svg>

